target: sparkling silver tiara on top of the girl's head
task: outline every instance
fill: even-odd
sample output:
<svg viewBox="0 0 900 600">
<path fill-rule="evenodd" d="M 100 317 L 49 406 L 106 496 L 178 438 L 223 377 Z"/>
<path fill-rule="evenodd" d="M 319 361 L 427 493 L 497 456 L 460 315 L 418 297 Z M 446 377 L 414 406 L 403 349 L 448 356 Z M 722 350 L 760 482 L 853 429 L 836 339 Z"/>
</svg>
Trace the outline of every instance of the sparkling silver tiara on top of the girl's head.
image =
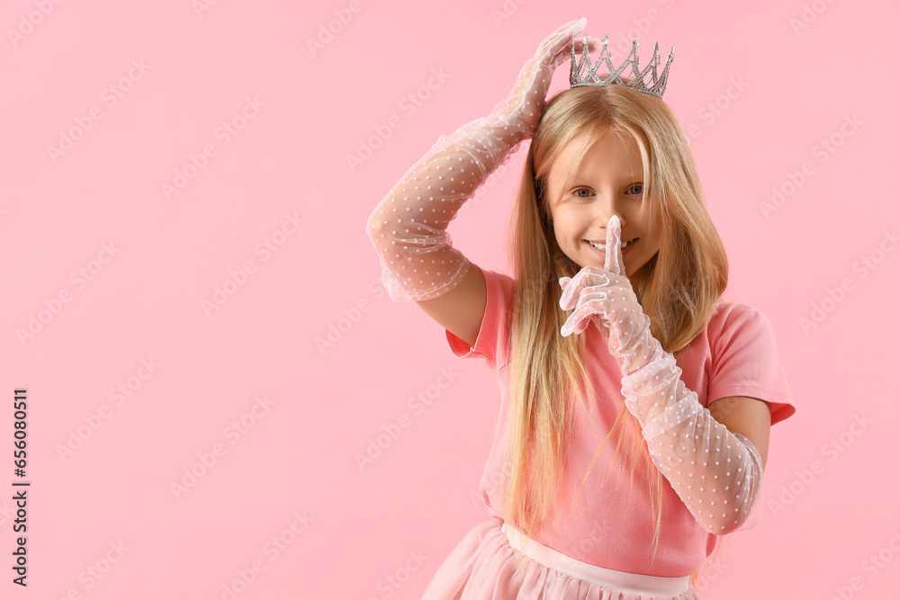
<svg viewBox="0 0 900 600">
<path fill-rule="evenodd" d="M 613 61 L 609 56 L 609 34 L 607 33 L 603 36 L 603 49 L 600 50 L 600 56 L 597 58 L 597 62 L 593 65 L 590 64 L 590 53 L 588 52 L 588 36 L 584 36 L 584 47 L 581 50 L 581 59 L 578 61 L 578 64 L 575 64 L 575 40 L 572 39 L 572 71 L 569 73 L 569 86 L 570 87 L 579 87 L 581 85 L 625 85 L 626 87 L 631 87 L 632 89 L 637 90 L 638 92 L 644 92 L 644 94 L 651 94 L 656 96 L 657 98 L 662 99 L 662 94 L 666 91 L 666 82 L 669 79 L 669 67 L 672 64 L 672 61 L 675 60 L 675 47 L 672 46 L 671 51 L 669 52 L 669 59 L 666 61 L 666 66 L 662 69 L 662 74 L 657 77 L 656 76 L 656 67 L 660 64 L 660 42 L 656 42 L 656 48 L 653 49 L 653 58 L 650 59 L 650 64 L 644 69 L 644 72 L 641 72 L 641 67 L 639 66 L 639 60 L 637 58 L 637 38 L 632 43 L 631 46 L 631 54 L 628 55 L 625 62 L 623 62 L 618 68 L 613 67 Z M 587 63 L 587 70 L 582 73 L 582 69 Z M 600 66 L 600 63 L 606 65 L 607 70 L 609 72 L 609 76 L 601 78 L 597 75 L 597 68 Z M 625 70 L 627 65 L 631 65 L 631 81 L 625 83 L 622 78 L 622 71 Z M 650 73 L 651 69 L 653 69 L 653 79 L 650 82 L 653 85 L 647 85 L 647 81 L 645 81 L 644 77 Z"/>
</svg>

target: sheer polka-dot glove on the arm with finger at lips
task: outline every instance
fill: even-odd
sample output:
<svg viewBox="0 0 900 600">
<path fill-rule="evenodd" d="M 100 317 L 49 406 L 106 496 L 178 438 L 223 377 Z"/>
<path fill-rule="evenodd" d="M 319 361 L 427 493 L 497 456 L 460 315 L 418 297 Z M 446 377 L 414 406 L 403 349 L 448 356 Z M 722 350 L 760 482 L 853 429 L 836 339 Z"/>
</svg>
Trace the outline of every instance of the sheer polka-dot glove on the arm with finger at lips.
<svg viewBox="0 0 900 600">
<path fill-rule="evenodd" d="M 622 361 L 622 394 L 642 426 L 653 464 L 698 522 L 716 535 L 751 529 L 754 507 L 759 515 L 760 453 L 747 437 L 716 421 L 681 381 L 680 367 L 651 334 L 650 318 L 625 275 L 620 239 L 614 216 L 607 226 L 612 252 L 606 268 L 586 266 L 560 280 L 560 307 L 574 308 L 561 333 L 581 333 L 591 323 L 604 332 L 610 353 Z"/>
</svg>

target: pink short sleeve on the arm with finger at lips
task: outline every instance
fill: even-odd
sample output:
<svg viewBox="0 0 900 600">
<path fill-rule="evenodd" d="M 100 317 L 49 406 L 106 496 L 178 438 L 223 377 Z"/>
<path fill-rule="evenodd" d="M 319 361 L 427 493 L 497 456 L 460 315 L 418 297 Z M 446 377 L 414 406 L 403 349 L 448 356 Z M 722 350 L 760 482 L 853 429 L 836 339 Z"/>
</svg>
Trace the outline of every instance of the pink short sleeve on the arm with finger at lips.
<svg viewBox="0 0 900 600">
<path fill-rule="evenodd" d="M 730 396 L 770 403 L 772 425 L 797 412 L 779 359 L 775 329 L 759 309 L 735 304 L 712 342 L 707 405 Z"/>
</svg>

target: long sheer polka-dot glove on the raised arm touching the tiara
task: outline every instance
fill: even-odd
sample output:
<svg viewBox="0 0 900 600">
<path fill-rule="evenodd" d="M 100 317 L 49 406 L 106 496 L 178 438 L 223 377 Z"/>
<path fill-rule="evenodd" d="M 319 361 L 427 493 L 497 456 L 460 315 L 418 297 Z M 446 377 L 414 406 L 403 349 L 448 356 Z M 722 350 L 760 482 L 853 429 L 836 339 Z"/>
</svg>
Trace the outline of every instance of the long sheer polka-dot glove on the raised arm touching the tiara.
<svg viewBox="0 0 900 600">
<path fill-rule="evenodd" d="M 532 137 L 554 70 L 570 57 L 570 42 L 586 24 L 566 23 L 541 42 L 491 115 L 441 136 L 375 208 L 366 231 L 393 301 L 431 300 L 463 281 L 469 261 L 453 247 L 446 228 L 488 176 Z M 599 43 L 589 38 L 589 51 Z M 583 45 L 575 40 L 576 52 Z"/>
</svg>

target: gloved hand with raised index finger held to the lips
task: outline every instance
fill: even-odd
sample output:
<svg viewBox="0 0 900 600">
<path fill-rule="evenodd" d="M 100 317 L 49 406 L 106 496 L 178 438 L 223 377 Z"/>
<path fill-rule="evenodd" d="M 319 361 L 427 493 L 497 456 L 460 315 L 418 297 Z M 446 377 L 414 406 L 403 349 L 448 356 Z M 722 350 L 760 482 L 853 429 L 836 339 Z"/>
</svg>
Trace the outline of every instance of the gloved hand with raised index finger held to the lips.
<svg viewBox="0 0 900 600">
<path fill-rule="evenodd" d="M 560 333 L 563 336 L 581 333 L 594 323 L 628 374 L 651 361 L 655 345 L 651 342 L 650 318 L 644 314 L 644 307 L 637 301 L 626 277 L 621 236 L 621 223 L 614 215 L 607 224 L 606 268 L 586 266 L 571 279 L 560 279 L 563 287 L 560 308 L 575 309 Z"/>
</svg>

